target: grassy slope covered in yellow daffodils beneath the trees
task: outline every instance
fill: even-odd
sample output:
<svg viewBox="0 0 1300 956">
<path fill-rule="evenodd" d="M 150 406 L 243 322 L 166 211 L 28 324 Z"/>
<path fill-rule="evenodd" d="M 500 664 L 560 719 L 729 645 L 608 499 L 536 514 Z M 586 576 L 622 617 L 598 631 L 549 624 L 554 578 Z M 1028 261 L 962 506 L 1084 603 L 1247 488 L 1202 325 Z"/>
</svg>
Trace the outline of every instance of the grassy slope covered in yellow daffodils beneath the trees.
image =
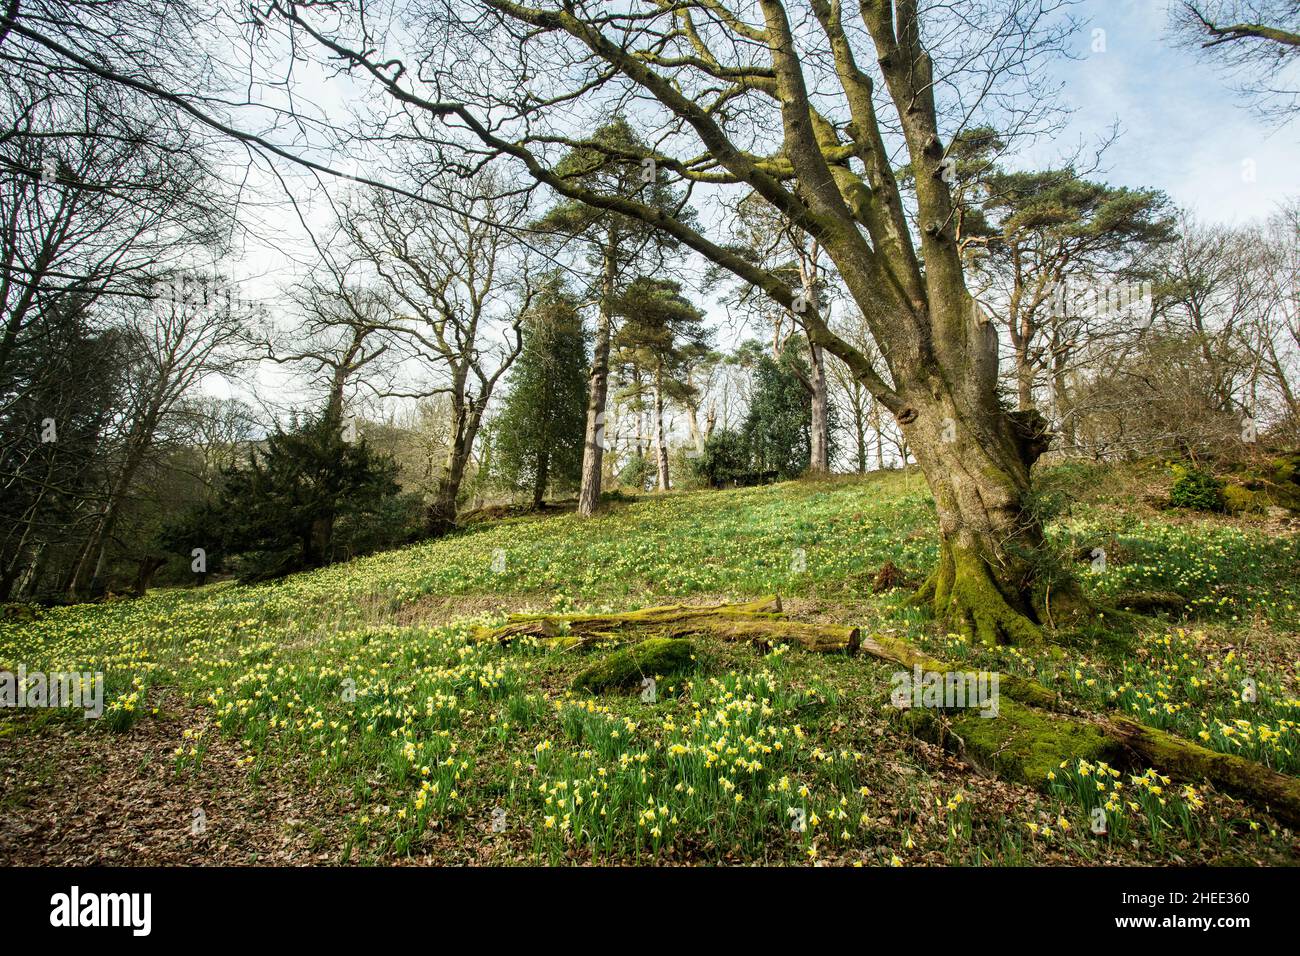
<svg viewBox="0 0 1300 956">
<path fill-rule="evenodd" d="M 1043 793 L 976 775 L 898 727 L 881 662 L 697 643 L 696 670 L 662 682 L 650 704 L 572 695 L 590 658 L 465 641 L 473 622 L 520 607 L 777 592 L 798 614 L 1032 674 L 1087 706 L 1300 771 L 1294 533 L 1158 512 L 1140 503 L 1148 477 L 1138 473 L 1049 477 L 1061 509 L 1052 533 L 1069 550 L 1108 550 L 1102 574 L 1079 566 L 1089 584 L 1175 588 L 1186 620 L 1130 636 L 1098 620 L 1036 654 L 970 648 L 904 609 L 904 592 L 870 594 L 885 561 L 919 579 L 935 555 L 915 475 L 792 483 L 618 503 L 586 523 L 511 519 L 269 585 L 155 592 L 0 624 L 0 665 L 103 670 L 112 701 L 91 730 L 26 711 L 0 718 L 0 735 L 114 748 L 152 724 L 176 741 L 164 770 L 177 787 L 202 790 L 220 773 L 240 791 L 302 795 L 333 858 L 1294 857 L 1292 834 L 1269 818 L 1158 778 L 1063 766 Z M 0 799 L 0 817 L 31 818 L 40 786 L 14 773 L 21 796 Z M 1088 827 L 1098 804 L 1105 836 Z M 802 830 L 792 826 L 801 817 Z M 277 838 L 250 838 L 250 858 Z"/>
</svg>

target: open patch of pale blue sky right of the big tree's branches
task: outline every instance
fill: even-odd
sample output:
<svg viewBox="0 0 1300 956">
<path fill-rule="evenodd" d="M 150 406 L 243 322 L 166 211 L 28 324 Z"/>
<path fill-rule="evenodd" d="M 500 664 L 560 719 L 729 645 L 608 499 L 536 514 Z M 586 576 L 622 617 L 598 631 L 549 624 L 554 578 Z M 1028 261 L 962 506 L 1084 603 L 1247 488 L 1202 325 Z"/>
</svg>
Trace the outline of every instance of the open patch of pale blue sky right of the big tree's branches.
<svg viewBox="0 0 1300 956">
<path fill-rule="evenodd" d="M 1075 40 L 1079 59 L 1054 68 L 1075 112 L 1056 143 L 1020 159 L 1050 164 L 1118 121 L 1122 134 L 1098 178 L 1162 189 L 1205 220 L 1262 219 L 1300 195 L 1300 120 L 1277 126 L 1256 117 L 1221 73 L 1173 46 L 1166 10 L 1166 0 L 1080 4 L 1088 23 Z M 1093 30 L 1105 31 L 1104 52 L 1092 49 Z"/>
</svg>

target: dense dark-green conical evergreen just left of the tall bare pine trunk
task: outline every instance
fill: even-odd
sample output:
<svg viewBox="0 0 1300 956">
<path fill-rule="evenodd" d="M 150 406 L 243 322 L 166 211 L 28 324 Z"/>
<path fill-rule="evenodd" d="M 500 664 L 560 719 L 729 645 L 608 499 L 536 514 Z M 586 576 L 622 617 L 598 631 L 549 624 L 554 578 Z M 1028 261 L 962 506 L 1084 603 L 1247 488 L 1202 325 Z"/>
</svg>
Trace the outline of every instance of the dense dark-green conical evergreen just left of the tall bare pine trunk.
<svg viewBox="0 0 1300 956">
<path fill-rule="evenodd" d="M 524 350 L 510 372 L 510 393 L 495 420 L 495 459 L 503 483 L 528 489 L 541 507 L 551 485 L 582 475 L 588 423 L 586 337 L 577 303 L 558 280 L 534 300 Z"/>
</svg>

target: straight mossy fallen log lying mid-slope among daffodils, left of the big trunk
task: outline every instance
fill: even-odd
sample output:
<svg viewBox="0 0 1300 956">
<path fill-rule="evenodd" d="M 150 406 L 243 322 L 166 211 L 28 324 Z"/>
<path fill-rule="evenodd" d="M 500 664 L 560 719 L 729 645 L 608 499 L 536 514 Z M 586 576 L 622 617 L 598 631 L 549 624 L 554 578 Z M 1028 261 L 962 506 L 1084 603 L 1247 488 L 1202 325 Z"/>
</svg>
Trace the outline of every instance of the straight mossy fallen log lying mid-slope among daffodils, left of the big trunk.
<svg viewBox="0 0 1300 956">
<path fill-rule="evenodd" d="M 748 640 L 762 650 L 797 644 L 815 653 L 853 654 L 861 632 L 841 624 L 789 620 L 783 617 L 781 600 L 771 596 L 746 604 L 660 605 L 621 614 L 512 614 L 500 627 L 480 627 L 473 635 L 474 640 L 499 644 L 536 637 L 566 650 L 606 641 L 692 636 Z"/>
</svg>

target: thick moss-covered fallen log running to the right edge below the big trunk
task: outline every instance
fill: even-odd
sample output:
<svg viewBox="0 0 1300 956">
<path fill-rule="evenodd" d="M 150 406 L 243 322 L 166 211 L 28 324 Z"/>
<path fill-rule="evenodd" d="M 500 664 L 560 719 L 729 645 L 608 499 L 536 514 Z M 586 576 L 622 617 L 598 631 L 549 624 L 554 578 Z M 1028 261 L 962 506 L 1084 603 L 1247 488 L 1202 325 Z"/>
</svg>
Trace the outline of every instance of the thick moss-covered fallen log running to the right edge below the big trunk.
<svg viewBox="0 0 1300 956">
<path fill-rule="evenodd" d="M 866 636 L 861 650 L 894 663 L 946 674 L 961 670 L 927 656 L 905 641 Z M 957 750 L 976 766 L 1001 777 L 1045 788 L 1046 774 L 1062 761 L 1105 760 L 1117 767 L 1148 766 L 1190 783 L 1209 780 L 1217 790 L 1240 797 L 1300 826 L 1300 779 L 1280 774 L 1232 753 L 1210 750 L 1191 740 L 1148 727 L 1123 714 L 1091 714 L 1071 706 L 1041 684 L 1010 674 L 998 675 L 997 717 L 976 710 L 953 710 L 940 719 L 936 710 L 904 710 L 911 732 Z"/>
</svg>

